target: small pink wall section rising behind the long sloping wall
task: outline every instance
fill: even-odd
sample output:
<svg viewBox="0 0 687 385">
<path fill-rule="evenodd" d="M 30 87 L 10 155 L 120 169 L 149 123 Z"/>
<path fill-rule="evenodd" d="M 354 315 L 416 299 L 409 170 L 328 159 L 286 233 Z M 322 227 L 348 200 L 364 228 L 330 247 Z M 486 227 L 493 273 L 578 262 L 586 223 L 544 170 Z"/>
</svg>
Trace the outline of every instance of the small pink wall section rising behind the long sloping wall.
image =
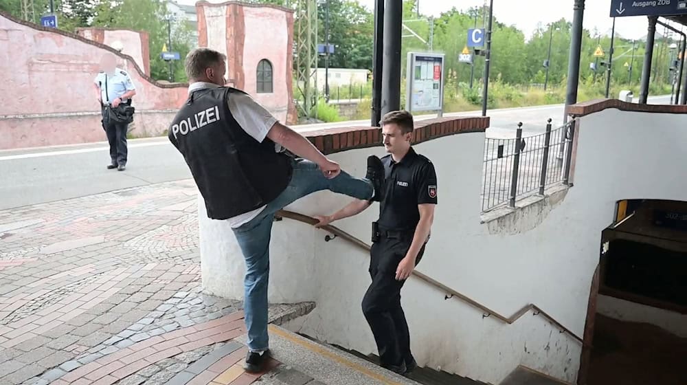
<svg viewBox="0 0 687 385">
<path fill-rule="evenodd" d="M 122 43 L 122 54 L 131 56 L 134 62 L 150 76 L 150 47 L 148 32 L 133 30 L 109 30 L 107 28 L 78 28 L 76 34 L 100 44 L 113 47 Z"/>
</svg>

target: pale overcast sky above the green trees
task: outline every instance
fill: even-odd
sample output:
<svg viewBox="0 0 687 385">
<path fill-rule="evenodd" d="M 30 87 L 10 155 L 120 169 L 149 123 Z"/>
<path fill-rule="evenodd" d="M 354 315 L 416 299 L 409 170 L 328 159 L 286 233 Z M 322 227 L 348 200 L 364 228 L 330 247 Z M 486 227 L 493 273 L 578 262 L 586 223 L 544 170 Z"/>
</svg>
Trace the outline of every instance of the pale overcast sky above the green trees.
<svg viewBox="0 0 687 385">
<path fill-rule="evenodd" d="M 178 0 L 179 3 L 193 5 L 196 0 Z M 210 0 L 212 3 L 224 0 Z M 455 7 L 468 10 L 481 6 L 484 0 L 418 0 L 420 13 L 438 17 L 441 12 Z M 374 0 L 358 0 L 370 10 L 374 9 Z M 546 25 L 550 21 L 565 18 L 572 21 L 574 0 L 494 0 L 494 15 L 502 23 L 515 25 L 529 38 L 537 25 Z M 610 34 L 612 20 L 609 17 L 611 0 L 587 0 L 585 2 L 584 27 L 590 31 L 596 28 L 602 34 Z M 639 39 L 646 36 L 646 17 L 619 17 L 616 19 L 616 32 L 626 39 Z M 677 26 L 679 28 L 679 26 Z M 657 32 L 662 33 L 662 28 Z"/>
</svg>

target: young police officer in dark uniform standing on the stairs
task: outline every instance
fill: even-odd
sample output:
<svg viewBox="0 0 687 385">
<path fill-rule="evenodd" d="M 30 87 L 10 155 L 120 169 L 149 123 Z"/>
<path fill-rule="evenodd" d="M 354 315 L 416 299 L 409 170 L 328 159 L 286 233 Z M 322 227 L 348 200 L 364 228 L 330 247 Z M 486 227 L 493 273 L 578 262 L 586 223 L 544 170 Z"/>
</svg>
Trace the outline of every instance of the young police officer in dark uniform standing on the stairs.
<svg viewBox="0 0 687 385">
<path fill-rule="evenodd" d="M 437 203 L 433 164 L 410 146 L 413 116 L 392 111 L 382 119 L 387 155 L 382 158 L 385 192 L 379 221 L 373 223 L 370 276 L 363 298 L 363 314 L 370 324 L 382 366 L 396 373 L 417 367 L 410 353 L 410 335 L 401 308 L 401 287 L 425 252 Z M 351 217 L 370 207 L 354 201 L 329 217 L 318 217 L 317 227 Z"/>
</svg>

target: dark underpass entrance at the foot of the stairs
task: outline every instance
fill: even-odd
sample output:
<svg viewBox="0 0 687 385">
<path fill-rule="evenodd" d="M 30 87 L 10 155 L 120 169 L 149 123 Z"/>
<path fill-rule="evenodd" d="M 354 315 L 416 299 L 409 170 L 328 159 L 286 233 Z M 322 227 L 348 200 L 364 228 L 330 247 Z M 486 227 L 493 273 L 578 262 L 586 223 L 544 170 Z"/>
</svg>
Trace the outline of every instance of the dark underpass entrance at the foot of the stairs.
<svg viewBox="0 0 687 385">
<path fill-rule="evenodd" d="M 597 274 L 579 383 L 686 384 L 687 202 L 618 202 Z"/>
</svg>

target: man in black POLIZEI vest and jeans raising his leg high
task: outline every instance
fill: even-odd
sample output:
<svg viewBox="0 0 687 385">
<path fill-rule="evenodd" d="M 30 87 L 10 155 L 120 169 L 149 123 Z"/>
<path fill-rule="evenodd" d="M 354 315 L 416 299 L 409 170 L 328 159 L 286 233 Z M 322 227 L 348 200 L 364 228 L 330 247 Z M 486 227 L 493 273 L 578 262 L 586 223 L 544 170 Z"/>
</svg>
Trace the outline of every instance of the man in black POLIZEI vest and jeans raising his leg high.
<svg viewBox="0 0 687 385">
<path fill-rule="evenodd" d="M 191 170 L 207 216 L 229 222 L 243 253 L 249 348 L 244 368 L 255 373 L 269 356 L 267 281 L 275 212 L 319 190 L 379 201 L 384 166 L 370 156 L 364 179 L 342 171 L 248 94 L 225 87 L 226 56 L 220 52 L 193 50 L 185 69 L 189 96 L 168 137 Z"/>
</svg>

